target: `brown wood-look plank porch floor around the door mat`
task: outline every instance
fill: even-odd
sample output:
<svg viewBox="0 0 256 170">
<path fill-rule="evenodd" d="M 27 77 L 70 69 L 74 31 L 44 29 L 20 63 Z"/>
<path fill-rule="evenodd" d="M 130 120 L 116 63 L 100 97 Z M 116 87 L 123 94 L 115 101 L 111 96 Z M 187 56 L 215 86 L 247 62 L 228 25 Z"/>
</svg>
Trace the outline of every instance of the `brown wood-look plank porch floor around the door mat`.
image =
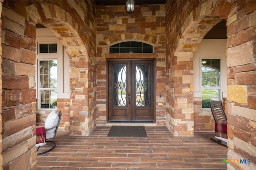
<svg viewBox="0 0 256 170">
<path fill-rule="evenodd" d="M 147 138 L 108 138 L 110 126 L 97 126 L 90 136 L 58 131 L 56 147 L 38 156 L 37 169 L 227 169 L 227 148 L 210 140 L 213 132 L 176 137 L 164 126 L 145 128 Z"/>
</svg>

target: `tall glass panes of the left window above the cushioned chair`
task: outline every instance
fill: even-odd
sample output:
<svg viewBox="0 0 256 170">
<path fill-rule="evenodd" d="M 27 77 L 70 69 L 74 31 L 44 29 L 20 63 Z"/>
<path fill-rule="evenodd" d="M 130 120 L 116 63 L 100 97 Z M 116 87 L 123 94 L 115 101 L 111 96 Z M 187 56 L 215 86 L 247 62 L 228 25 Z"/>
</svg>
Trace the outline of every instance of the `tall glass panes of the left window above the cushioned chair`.
<svg viewBox="0 0 256 170">
<path fill-rule="evenodd" d="M 39 61 L 40 109 L 57 108 L 57 60 Z"/>
</svg>

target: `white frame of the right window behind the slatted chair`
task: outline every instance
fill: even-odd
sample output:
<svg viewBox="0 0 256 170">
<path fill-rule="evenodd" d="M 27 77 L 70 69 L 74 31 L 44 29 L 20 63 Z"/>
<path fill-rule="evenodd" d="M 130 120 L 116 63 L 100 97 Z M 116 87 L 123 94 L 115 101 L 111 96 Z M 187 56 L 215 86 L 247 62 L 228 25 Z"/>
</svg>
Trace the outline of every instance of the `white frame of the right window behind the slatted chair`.
<svg viewBox="0 0 256 170">
<path fill-rule="evenodd" d="M 202 59 L 220 59 L 220 87 L 202 87 Z M 203 89 L 218 89 L 219 90 L 219 101 L 222 100 L 222 83 L 221 83 L 221 78 L 222 78 L 222 57 L 200 57 L 200 93 L 202 97 L 202 90 Z M 210 110 L 209 108 L 202 108 L 203 110 Z"/>
</svg>

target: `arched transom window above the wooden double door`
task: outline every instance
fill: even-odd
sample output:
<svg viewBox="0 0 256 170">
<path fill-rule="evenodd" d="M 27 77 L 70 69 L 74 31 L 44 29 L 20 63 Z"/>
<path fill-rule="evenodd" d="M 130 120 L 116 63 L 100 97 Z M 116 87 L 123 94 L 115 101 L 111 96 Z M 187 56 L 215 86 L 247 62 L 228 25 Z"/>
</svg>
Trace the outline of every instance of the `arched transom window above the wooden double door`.
<svg viewBox="0 0 256 170">
<path fill-rule="evenodd" d="M 153 53 L 153 46 L 144 42 L 120 42 L 110 46 L 109 53 Z"/>
</svg>

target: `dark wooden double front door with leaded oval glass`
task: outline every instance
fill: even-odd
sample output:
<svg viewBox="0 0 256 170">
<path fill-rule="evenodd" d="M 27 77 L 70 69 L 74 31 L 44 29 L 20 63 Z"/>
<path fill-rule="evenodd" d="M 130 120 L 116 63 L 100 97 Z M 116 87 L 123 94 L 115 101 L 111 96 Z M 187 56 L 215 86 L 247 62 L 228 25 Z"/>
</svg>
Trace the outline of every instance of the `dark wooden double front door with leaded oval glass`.
<svg viewBox="0 0 256 170">
<path fill-rule="evenodd" d="M 108 61 L 108 122 L 154 122 L 152 61 Z"/>
</svg>

